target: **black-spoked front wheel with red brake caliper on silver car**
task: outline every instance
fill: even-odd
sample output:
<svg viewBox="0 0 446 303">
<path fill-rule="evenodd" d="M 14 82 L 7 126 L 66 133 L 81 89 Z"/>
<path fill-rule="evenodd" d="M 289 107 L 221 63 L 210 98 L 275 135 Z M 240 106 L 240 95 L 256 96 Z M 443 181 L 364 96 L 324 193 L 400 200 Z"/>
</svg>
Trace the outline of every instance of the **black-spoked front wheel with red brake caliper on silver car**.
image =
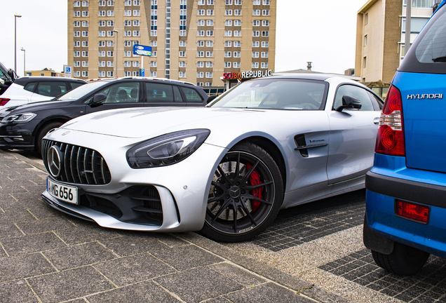
<svg viewBox="0 0 446 303">
<path fill-rule="evenodd" d="M 272 157 L 255 144 L 236 144 L 215 170 L 201 234 L 215 241 L 249 240 L 269 227 L 282 201 L 283 180 Z"/>
</svg>

